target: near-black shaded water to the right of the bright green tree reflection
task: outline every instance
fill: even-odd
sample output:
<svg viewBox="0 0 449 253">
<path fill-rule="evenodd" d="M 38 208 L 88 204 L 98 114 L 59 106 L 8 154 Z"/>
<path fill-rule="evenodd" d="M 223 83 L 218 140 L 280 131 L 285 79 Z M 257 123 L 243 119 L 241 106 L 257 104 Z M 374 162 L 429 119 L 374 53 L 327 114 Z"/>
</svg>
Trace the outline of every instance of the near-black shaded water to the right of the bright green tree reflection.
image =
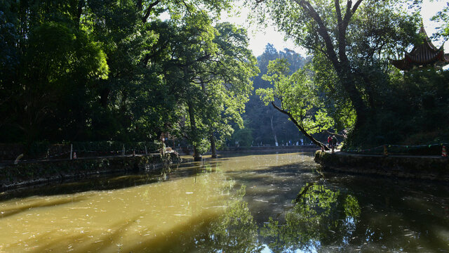
<svg viewBox="0 0 449 253">
<path fill-rule="evenodd" d="M 447 184 L 368 176 L 348 179 L 342 180 L 344 186 L 362 209 L 355 231 L 361 239 L 355 240 L 406 252 L 449 251 Z M 335 177 L 330 184 L 337 181 Z"/>
</svg>

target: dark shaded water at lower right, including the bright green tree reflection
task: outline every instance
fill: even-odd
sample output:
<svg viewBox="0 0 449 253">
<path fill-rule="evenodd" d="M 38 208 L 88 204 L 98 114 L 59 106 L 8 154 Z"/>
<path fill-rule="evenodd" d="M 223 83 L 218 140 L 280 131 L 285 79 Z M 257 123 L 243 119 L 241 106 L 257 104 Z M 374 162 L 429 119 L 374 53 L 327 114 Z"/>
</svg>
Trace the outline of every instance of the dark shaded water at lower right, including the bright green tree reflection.
<svg viewBox="0 0 449 253">
<path fill-rule="evenodd" d="M 448 252 L 448 186 L 327 175 L 301 188 L 261 240 L 273 252 Z"/>
</svg>

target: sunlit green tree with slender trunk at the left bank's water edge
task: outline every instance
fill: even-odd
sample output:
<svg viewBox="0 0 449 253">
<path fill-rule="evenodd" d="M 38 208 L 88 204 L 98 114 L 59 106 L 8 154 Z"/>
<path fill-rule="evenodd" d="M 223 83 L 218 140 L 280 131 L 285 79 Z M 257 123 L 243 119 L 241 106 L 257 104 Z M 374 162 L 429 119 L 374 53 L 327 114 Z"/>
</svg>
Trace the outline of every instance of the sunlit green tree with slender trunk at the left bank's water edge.
<svg viewBox="0 0 449 253">
<path fill-rule="evenodd" d="M 203 119 L 209 126 L 212 157 L 217 157 L 215 136 L 222 143 L 232 134 L 229 122 L 243 128 L 241 114 L 253 89 L 250 78 L 259 72 L 253 53 L 248 49 L 246 30 L 237 29 L 228 22 L 217 24 L 215 28 L 217 56 L 211 60 L 213 64 L 207 65 L 206 76 L 201 78 L 202 84 L 206 84 L 203 93 L 209 98 L 205 106 L 213 109 Z"/>
</svg>

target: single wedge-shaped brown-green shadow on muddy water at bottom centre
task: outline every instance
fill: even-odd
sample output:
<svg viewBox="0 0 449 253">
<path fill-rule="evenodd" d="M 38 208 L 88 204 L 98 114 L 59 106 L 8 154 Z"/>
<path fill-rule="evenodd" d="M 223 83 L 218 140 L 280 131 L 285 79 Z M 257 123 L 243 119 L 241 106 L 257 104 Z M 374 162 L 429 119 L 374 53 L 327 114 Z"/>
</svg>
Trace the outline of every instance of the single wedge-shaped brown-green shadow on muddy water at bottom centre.
<svg viewBox="0 0 449 253">
<path fill-rule="evenodd" d="M 222 214 L 199 214 L 173 228 L 163 238 L 142 240 L 130 247 L 133 252 L 261 252 L 257 224 L 238 190 Z M 126 249 L 126 246 L 124 246 Z"/>
</svg>

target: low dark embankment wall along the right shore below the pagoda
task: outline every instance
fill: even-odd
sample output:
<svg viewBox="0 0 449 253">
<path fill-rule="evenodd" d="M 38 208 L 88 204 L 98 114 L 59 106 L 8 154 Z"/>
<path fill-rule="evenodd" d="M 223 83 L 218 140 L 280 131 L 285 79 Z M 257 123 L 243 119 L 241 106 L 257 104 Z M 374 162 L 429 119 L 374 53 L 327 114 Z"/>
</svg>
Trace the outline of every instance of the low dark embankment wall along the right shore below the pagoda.
<svg viewBox="0 0 449 253">
<path fill-rule="evenodd" d="M 315 153 L 315 162 L 333 171 L 449 182 L 449 159 L 438 156 Z"/>
</svg>

